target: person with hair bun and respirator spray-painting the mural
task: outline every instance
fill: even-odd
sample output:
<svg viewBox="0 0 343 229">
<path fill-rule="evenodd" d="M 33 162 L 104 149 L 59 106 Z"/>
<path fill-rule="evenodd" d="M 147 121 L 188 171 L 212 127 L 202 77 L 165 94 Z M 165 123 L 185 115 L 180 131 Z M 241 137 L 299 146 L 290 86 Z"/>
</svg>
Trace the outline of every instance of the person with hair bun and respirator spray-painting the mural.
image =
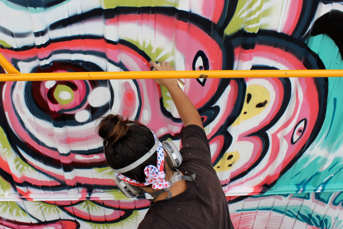
<svg viewBox="0 0 343 229">
<path fill-rule="evenodd" d="M 174 70 L 165 61 L 150 64 L 158 71 Z M 233 228 L 197 109 L 176 79 L 155 82 L 168 89 L 185 124 L 180 152 L 168 141 L 159 142 L 147 126 L 120 115 L 109 114 L 98 125 L 117 186 L 128 197 L 144 192 L 153 197 L 138 228 Z"/>
</svg>

